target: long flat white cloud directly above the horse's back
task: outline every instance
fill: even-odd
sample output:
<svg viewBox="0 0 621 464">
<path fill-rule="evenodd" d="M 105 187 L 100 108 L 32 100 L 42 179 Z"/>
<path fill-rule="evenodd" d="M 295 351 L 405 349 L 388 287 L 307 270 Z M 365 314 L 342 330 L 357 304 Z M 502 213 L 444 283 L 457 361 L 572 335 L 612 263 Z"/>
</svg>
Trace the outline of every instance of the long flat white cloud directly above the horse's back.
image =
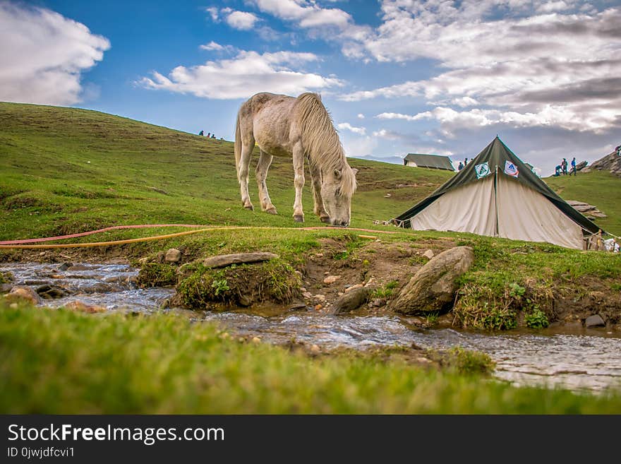
<svg viewBox="0 0 621 464">
<path fill-rule="evenodd" d="M 318 56 L 312 53 L 258 54 L 242 50 L 234 59 L 207 61 L 190 68 L 177 66 L 168 77 L 154 71 L 152 78 L 142 78 L 138 83 L 145 88 L 222 100 L 250 97 L 258 92 L 299 95 L 342 85 L 338 78 L 293 69 L 317 60 Z"/>
</svg>

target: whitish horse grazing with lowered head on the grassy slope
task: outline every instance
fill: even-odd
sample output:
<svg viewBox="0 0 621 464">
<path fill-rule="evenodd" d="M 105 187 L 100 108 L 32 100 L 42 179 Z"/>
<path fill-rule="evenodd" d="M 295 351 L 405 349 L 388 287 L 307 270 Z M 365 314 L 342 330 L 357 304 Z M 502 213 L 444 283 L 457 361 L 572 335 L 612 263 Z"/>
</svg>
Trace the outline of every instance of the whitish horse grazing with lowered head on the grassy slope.
<svg viewBox="0 0 621 464">
<path fill-rule="evenodd" d="M 255 143 L 261 150 L 256 177 L 263 211 L 277 214 L 265 184 L 272 157 L 293 157 L 294 220 L 304 221 L 302 187 L 304 157 L 307 157 L 315 214 L 322 222 L 349 225 L 357 169 L 351 169 L 347 164 L 337 131 L 319 95 L 303 93 L 296 98 L 258 93 L 239 108 L 235 127 L 235 167 L 241 202 L 244 208 L 251 210 L 254 207 L 248 195 L 248 165 Z"/>
</svg>

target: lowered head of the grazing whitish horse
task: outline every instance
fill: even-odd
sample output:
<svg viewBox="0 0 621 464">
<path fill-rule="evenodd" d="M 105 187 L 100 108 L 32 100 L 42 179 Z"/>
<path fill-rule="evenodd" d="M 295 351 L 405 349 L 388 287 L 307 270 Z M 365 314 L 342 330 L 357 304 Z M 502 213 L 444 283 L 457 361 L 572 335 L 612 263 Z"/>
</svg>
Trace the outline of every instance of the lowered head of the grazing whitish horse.
<svg viewBox="0 0 621 464">
<path fill-rule="evenodd" d="M 347 227 L 351 220 L 351 195 L 356 191 L 356 172 L 345 164 L 343 169 L 324 172 L 321 183 L 321 198 L 330 224 Z"/>
</svg>

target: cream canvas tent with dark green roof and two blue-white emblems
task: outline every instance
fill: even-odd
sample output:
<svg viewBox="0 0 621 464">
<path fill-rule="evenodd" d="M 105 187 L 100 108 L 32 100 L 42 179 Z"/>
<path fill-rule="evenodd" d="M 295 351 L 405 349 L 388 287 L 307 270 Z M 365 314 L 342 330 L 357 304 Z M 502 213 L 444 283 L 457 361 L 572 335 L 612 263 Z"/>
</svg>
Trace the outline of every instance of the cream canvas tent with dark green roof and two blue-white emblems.
<svg viewBox="0 0 621 464">
<path fill-rule="evenodd" d="M 598 225 L 560 198 L 496 138 L 430 196 L 392 220 L 415 230 L 472 232 L 583 249 Z"/>
</svg>

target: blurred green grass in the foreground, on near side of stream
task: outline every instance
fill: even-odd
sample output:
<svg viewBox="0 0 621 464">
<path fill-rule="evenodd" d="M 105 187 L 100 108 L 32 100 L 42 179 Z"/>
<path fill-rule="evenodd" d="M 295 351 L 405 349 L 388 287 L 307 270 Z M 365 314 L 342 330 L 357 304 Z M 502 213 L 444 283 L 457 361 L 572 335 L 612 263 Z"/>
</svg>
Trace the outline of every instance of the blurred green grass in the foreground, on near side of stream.
<svg viewBox="0 0 621 464">
<path fill-rule="evenodd" d="M 398 357 L 311 358 L 224 338 L 215 326 L 176 316 L 97 317 L 3 304 L 0 391 L 3 413 L 621 412 L 618 393 L 514 388 Z"/>
</svg>

